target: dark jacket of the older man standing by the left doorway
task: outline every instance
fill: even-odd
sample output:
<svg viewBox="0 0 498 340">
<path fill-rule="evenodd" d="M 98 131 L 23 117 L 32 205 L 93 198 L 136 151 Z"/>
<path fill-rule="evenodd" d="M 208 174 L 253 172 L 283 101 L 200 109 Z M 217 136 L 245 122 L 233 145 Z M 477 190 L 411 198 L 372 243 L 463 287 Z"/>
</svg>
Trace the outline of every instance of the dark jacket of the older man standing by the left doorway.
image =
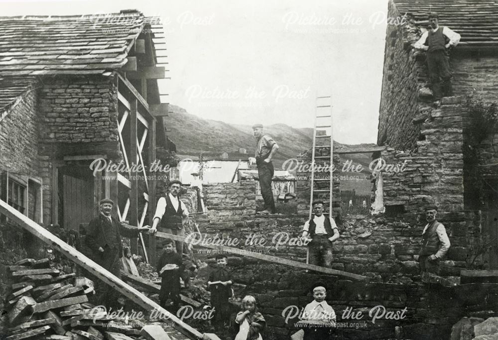
<svg viewBox="0 0 498 340">
<path fill-rule="evenodd" d="M 99 254 L 99 247 L 104 250 L 118 249 L 120 257 L 123 256 L 123 246 L 121 244 L 121 235 L 125 237 L 138 237 L 138 228 L 127 226 L 111 217 L 112 223 L 102 214 L 99 214 L 88 224 L 86 245 L 92 249 L 94 254 Z"/>
</svg>

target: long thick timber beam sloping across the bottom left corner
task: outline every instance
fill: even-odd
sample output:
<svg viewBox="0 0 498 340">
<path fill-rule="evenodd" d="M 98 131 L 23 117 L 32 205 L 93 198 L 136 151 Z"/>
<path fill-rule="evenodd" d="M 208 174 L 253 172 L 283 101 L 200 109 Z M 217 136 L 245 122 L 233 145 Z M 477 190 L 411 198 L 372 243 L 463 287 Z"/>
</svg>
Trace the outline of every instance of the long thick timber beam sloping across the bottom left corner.
<svg viewBox="0 0 498 340">
<path fill-rule="evenodd" d="M 20 212 L 10 207 L 3 200 L 0 200 L 0 213 L 4 214 L 8 219 L 17 223 L 20 227 L 30 232 L 43 242 L 49 244 L 52 248 L 55 248 L 62 254 L 64 254 L 71 261 L 80 265 L 81 267 L 88 270 L 91 274 L 95 275 L 97 278 L 101 279 L 108 285 L 112 286 L 118 292 L 126 296 L 128 299 L 141 306 L 146 310 L 156 310 L 159 314 L 162 313 L 164 322 L 173 322 L 174 328 L 179 332 L 185 334 L 188 337 L 194 337 L 197 339 L 202 339 L 203 334 L 192 328 L 191 326 L 185 324 L 183 321 L 178 319 L 175 315 L 169 313 L 164 308 L 159 306 L 157 303 L 149 299 L 147 296 L 140 293 L 135 288 L 131 287 L 123 280 L 119 279 L 115 275 L 111 274 L 105 268 L 95 263 L 93 260 L 87 256 L 80 253 L 78 250 L 50 233 L 47 229 L 39 226 L 34 221 L 30 220 L 26 216 L 22 215 Z M 74 298 L 70 298 L 74 299 Z"/>
</svg>

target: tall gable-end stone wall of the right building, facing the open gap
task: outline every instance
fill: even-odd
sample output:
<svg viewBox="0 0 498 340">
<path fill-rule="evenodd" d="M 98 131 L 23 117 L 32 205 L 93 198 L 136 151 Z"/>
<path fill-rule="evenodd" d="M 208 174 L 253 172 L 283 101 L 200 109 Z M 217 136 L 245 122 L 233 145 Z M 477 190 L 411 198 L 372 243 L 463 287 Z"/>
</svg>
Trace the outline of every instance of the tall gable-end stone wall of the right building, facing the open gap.
<svg viewBox="0 0 498 340">
<path fill-rule="evenodd" d="M 389 1 L 387 17 L 401 15 L 393 1 Z M 409 20 L 401 26 L 387 25 L 378 145 L 399 150 L 416 147 L 420 127 L 412 124 L 412 119 L 419 114 L 417 95 L 425 82 L 423 62 L 414 57 L 410 46 L 417 34 L 418 29 Z"/>
</svg>

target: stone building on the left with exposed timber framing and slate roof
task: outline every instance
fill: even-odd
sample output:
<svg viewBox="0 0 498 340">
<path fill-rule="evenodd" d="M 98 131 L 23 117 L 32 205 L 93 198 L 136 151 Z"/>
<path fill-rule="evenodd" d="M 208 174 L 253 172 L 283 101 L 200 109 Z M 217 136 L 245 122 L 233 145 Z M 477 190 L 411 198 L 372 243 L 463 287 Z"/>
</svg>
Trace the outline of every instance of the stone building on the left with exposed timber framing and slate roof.
<svg viewBox="0 0 498 340">
<path fill-rule="evenodd" d="M 157 85 L 161 30 L 136 10 L 0 18 L 2 200 L 44 226 L 78 230 L 110 197 L 121 220 L 148 224 L 149 164 L 156 146 L 174 147 Z"/>
</svg>

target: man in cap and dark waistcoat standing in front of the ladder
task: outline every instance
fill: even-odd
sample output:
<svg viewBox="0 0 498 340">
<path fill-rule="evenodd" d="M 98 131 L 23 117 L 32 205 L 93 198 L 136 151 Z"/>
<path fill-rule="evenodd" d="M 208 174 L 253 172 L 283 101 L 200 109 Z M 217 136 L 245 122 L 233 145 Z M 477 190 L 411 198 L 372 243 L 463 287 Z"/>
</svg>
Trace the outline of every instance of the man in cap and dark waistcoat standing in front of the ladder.
<svg viewBox="0 0 498 340">
<path fill-rule="evenodd" d="M 313 214 L 306 221 L 301 238 L 308 243 L 309 264 L 330 267 L 332 264 L 332 243 L 340 237 L 334 219 L 323 215 L 323 201 L 313 202 Z"/>
</svg>

